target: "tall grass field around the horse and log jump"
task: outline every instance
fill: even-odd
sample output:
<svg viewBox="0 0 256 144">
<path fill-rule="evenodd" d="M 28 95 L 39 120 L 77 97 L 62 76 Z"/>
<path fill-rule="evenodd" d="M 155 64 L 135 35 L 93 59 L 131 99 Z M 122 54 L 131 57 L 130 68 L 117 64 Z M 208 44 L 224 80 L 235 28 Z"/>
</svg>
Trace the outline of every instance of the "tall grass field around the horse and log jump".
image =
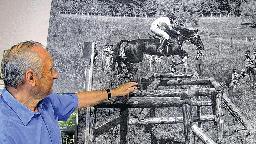
<svg viewBox="0 0 256 144">
<path fill-rule="evenodd" d="M 55 62 L 54 68 L 60 78 L 54 82 L 55 92 L 78 92 L 83 90 L 84 71 L 89 68 L 89 60 L 82 59 L 82 49 L 84 41 L 96 42 L 99 51 L 97 67 L 94 69 L 93 89 L 100 90 L 115 88 L 121 83 L 137 81 L 148 73 L 145 59 L 136 67 L 137 72 L 128 75 L 120 74 L 114 76 L 113 72 L 104 69 L 104 61 L 101 59 L 101 52 L 105 44 L 114 45 L 122 39 L 134 40 L 147 38 L 150 25 L 154 18 L 123 18 L 123 17 L 104 17 L 104 16 L 78 16 L 78 15 L 56 15 L 51 16 L 48 34 L 47 50 L 51 53 Z M 231 74 L 234 68 L 238 72 L 244 66 L 242 60 L 246 49 L 253 53 L 252 43 L 246 43 L 245 37 L 255 36 L 256 30 L 247 26 L 241 26 L 245 22 L 241 18 L 203 18 L 199 20 L 198 30 L 220 34 L 219 38 L 201 37 L 205 50 L 203 57 L 204 73 L 201 79 L 214 77 L 215 80 L 229 85 Z M 232 39 L 232 41 L 231 41 Z M 190 43 L 184 43 L 183 48 L 188 51 L 189 71 L 196 72 L 195 54 L 196 47 Z M 168 72 L 170 62 L 178 57 L 165 57 L 162 60 L 162 72 Z M 255 123 L 256 98 L 255 83 L 249 86 L 242 86 L 235 90 L 225 88 L 225 93 L 234 102 L 237 108 Z M 138 86 L 139 89 L 141 85 Z M 163 87 L 179 88 L 179 86 Z M 187 87 L 184 87 L 187 88 Z M 211 114 L 210 107 L 204 107 L 202 114 Z M 119 116 L 118 109 L 98 109 L 97 123 L 99 126 L 115 117 Z M 130 109 L 133 115 L 139 114 L 139 109 Z M 193 115 L 196 114 L 195 109 Z M 180 108 L 157 108 L 156 117 L 182 116 Z M 256 143 L 255 135 L 247 135 L 242 130 L 241 124 L 225 110 L 225 143 Z M 84 139 L 85 111 L 79 113 L 79 143 Z M 217 140 L 217 132 L 212 122 L 205 122 L 203 130 L 214 140 Z M 165 130 L 173 134 L 175 141 L 172 143 L 184 143 L 183 125 L 157 125 L 156 129 Z M 117 144 L 119 143 L 119 127 L 115 127 L 105 134 L 95 139 L 97 144 Z M 129 143 L 148 144 L 150 135 L 143 134 L 137 126 L 129 126 Z M 198 141 L 197 143 L 200 143 Z"/>
</svg>

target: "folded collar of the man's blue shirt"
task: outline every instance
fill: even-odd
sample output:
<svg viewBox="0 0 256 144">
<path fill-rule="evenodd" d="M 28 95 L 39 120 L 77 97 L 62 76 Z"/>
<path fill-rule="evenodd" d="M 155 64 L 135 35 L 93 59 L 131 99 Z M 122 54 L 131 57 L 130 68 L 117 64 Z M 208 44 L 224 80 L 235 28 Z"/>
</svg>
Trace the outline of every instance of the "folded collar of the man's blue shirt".
<svg viewBox="0 0 256 144">
<path fill-rule="evenodd" d="M 35 115 L 35 112 L 32 112 L 18 100 L 16 100 L 6 88 L 2 91 L 2 97 L 6 103 L 13 109 L 13 111 L 18 115 L 22 123 L 26 126 L 32 117 Z"/>
</svg>

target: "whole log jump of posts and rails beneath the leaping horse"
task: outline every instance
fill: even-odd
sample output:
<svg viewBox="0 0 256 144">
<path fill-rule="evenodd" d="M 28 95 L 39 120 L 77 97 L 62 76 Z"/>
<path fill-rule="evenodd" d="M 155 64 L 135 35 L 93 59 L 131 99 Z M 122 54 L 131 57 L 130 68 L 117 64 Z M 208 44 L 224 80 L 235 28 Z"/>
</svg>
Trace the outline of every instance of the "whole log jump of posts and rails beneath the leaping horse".
<svg viewBox="0 0 256 144">
<path fill-rule="evenodd" d="M 190 78 L 183 80 L 161 80 L 161 78 Z M 201 122 L 213 121 L 217 127 L 218 141 L 223 143 L 224 113 L 223 104 L 231 114 L 239 120 L 246 129 L 250 129 L 248 121 L 242 116 L 230 99 L 223 93 L 223 87 L 214 80 L 199 79 L 197 73 L 154 73 L 150 72 L 141 79 L 142 90 L 130 93 L 130 98 L 116 97 L 105 100 L 96 106 L 93 113 L 87 113 L 85 127 L 85 143 L 94 144 L 97 136 L 109 129 L 120 125 L 120 144 L 128 144 L 128 126 L 144 125 L 146 132 L 150 132 L 153 124 L 183 123 L 186 144 L 194 144 L 196 135 L 204 144 L 215 144 L 202 129 Z M 190 89 L 157 90 L 158 86 L 194 85 Z M 198 85 L 210 85 L 210 88 L 199 88 Z M 196 101 L 191 98 L 196 96 Z M 201 97 L 208 97 L 210 101 L 201 101 Z M 224 100 L 223 100 L 224 98 Z M 192 106 L 197 107 L 197 116 L 192 116 Z M 201 106 L 211 106 L 212 115 L 201 115 Z M 155 117 L 155 108 L 181 107 L 182 117 Z M 120 108 L 120 116 L 95 128 L 97 108 Z M 129 119 L 128 108 L 144 108 L 138 118 Z M 149 117 L 146 117 L 149 114 Z M 197 122 L 197 125 L 194 124 Z M 165 132 L 166 133 L 166 132 Z M 159 143 L 156 139 L 159 133 L 151 131 L 151 144 Z"/>
</svg>

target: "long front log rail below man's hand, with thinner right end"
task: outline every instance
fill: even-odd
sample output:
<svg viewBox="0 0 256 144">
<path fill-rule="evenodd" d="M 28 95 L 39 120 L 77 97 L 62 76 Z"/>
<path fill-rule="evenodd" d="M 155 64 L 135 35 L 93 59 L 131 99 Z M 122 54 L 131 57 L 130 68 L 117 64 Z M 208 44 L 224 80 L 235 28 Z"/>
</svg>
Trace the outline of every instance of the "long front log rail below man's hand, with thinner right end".
<svg viewBox="0 0 256 144">
<path fill-rule="evenodd" d="M 179 97 L 133 97 L 133 98 L 112 98 L 105 100 L 95 108 L 148 108 L 148 107 L 182 107 L 183 104 L 190 104 L 190 99 L 180 100 Z M 211 106 L 210 101 L 192 101 L 192 106 Z"/>
</svg>

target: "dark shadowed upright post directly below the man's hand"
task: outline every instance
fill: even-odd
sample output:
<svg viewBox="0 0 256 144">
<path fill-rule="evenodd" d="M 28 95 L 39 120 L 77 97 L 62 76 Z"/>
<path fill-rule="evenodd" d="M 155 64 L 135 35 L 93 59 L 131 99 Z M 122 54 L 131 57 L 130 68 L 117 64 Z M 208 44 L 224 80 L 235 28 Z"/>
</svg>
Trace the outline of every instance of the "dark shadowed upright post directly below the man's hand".
<svg viewBox="0 0 256 144">
<path fill-rule="evenodd" d="M 128 124 L 129 124 L 129 109 L 120 109 L 121 117 L 123 121 L 120 123 L 120 141 L 119 144 L 128 144 Z"/>
</svg>

